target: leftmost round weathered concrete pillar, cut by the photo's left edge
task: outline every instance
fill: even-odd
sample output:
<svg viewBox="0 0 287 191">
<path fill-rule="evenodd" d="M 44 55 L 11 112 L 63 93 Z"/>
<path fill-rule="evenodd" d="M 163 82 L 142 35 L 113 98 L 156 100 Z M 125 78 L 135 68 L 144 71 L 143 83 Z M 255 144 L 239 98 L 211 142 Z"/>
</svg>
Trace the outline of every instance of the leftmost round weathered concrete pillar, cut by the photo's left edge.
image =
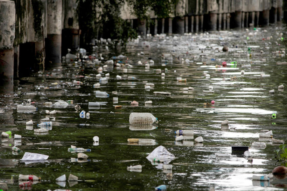
<svg viewBox="0 0 287 191">
<path fill-rule="evenodd" d="M 0 0 L 0 85 L 13 84 L 15 15 L 14 1 Z"/>
</svg>

